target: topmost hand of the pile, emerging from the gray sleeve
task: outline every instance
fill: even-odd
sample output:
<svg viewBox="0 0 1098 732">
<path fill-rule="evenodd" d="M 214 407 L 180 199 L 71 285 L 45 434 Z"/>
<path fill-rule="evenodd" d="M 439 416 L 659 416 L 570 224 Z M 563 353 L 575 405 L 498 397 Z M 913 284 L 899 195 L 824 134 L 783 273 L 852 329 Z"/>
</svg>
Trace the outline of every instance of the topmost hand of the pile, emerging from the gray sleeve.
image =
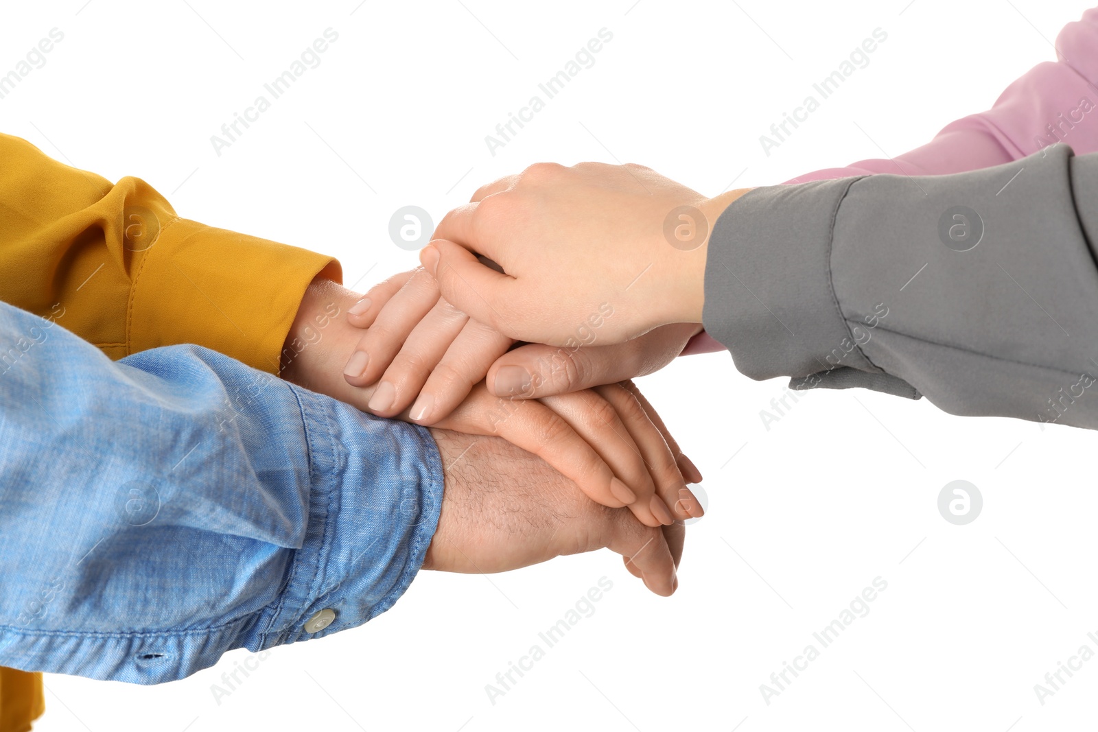
<svg viewBox="0 0 1098 732">
<path fill-rule="evenodd" d="M 567 346 L 612 308 L 600 340 L 621 342 L 701 322 L 708 235 L 733 198 L 631 164 L 537 164 L 448 213 L 419 261 L 448 303 L 508 338 Z"/>
</svg>

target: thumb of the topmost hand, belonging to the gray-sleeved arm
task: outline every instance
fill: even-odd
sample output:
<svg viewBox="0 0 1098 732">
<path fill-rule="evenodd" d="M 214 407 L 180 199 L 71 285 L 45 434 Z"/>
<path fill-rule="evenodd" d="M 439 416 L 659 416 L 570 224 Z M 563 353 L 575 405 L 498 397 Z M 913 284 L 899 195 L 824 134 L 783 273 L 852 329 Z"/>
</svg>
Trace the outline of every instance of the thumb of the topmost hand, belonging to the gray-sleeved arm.
<svg viewBox="0 0 1098 732">
<path fill-rule="evenodd" d="M 435 239 L 421 249 L 419 262 L 434 275 L 444 300 L 474 320 L 516 337 L 501 315 L 513 306 L 508 299 L 514 278 L 481 263 L 477 255 L 447 239 Z"/>
</svg>

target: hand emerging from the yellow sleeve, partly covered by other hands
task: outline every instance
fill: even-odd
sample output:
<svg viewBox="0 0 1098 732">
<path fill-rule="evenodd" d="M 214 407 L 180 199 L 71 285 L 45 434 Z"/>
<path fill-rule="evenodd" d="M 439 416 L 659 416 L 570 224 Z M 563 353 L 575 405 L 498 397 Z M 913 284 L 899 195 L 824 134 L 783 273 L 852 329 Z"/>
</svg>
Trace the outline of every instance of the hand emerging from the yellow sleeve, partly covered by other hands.
<svg viewBox="0 0 1098 732">
<path fill-rule="evenodd" d="M 371 292 L 392 296 L 412 277 L 397 275 Z M 289 360 L 282 375 L 371 410 L 377 384 L 354 386 L 341 373 L 361 336 L 341 314 L 360 302 L 358 295 L 332 282 L 311 285 L 287 340 L 306 345 Z M 325 317 L 323 329 L 316 327 L 318 313 L 330 316 Z M 407 409 L 393 416 L 410 420 Z M 613 508 L 628 505 L 648 526 L 702 514 L 677 468 L 677 444 L 631 383 L 542 401 L 495 397 L 481 383 L 436 425 L 503 437 L 545 459 L 592 499 Z"/>
</svg>

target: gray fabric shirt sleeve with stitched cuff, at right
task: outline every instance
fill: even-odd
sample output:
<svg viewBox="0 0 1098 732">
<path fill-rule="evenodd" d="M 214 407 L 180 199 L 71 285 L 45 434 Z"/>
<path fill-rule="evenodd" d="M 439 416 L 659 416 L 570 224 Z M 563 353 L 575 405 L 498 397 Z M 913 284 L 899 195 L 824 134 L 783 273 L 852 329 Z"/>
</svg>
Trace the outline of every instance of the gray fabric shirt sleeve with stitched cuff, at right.
<svg viewBox="0 0 1098 732">
<path fill-rule="evenodd" d="M 755 189 L 721 214 L 706 330 L 752 379 L 1098 428 L 1098 154 Z"/>
</svg>

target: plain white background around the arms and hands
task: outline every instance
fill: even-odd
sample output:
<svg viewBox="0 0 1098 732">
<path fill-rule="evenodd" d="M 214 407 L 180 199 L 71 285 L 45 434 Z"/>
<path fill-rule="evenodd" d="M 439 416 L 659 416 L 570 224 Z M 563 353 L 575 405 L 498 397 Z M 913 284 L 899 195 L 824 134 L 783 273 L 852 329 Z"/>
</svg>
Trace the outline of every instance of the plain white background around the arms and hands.
<svg viewBox="0 0 1098 732">
<path fill-rule="evenodd" d="M 366 289 L 416 263 L 388 236 L 530 162 L 635 161 L 709 195 L 897 155 L 1054 57 L 1063 0 L 12 3 L 0 74 L 65 34 L 0 100 L 0 128 L 183 216 L 336 255 Z M 339 38 L 219 157 L 210 137 L 332 27 Z M 606 27 L 613 41 L 493 157 L 484 136 Z M 759 136 L 876 27 L 887 41 L 770 157 Z M 268 95 L 269 98 L 269 95 Z M 1089 124 L 1095 124 L 1090 122 Z M 3 161 L 0 161 L 3 165 Z M 368 273 L 367 273 L 368 272 Z M 363 279 L 365 275 L 365 279 Z M 361 281 L 360 281 L 361 280 Z M 47 676 L 43 731 L 1051 730 L 1093 724 L 1098 661 L 1033 685 L 1098 631 L 1094 435 L 820 392 L 768 430 L 784 380 L 727 354 L 641 387 L 706 476 L 680 589 L 608 552 L 491 577 L 424 573 L 384 616 L 159 687 Z M 953 526 L 939 491 L 982 515 Z M 613 589 L 504 697 L 484 686 L 602 576 Z M 760 684 L 874 577 L 888 583 L 768 706 Z M 817 647 L 820 647 L 816 643 Z"/>
</svg>

